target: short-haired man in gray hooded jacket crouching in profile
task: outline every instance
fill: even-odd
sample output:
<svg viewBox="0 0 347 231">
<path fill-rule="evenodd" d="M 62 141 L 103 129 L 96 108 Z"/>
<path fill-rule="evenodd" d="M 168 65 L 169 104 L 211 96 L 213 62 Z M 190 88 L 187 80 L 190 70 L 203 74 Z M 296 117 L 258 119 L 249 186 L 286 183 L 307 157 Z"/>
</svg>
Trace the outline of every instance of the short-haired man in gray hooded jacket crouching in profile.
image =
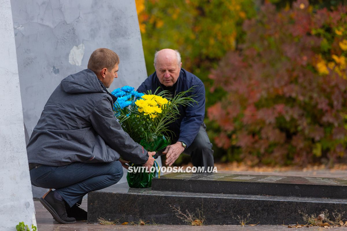
<svg viewBox="0 0 347 231">
<path fill-rule="evenodd" d="M 27 145 L 31 182 L 56 189 L 40 202 L 59 223 L 87 219 L 78 207 L 83 196 L 121 179 L 120 156 L 153 165 L 155 152 L 135 143 L 113 114 L 116 97 L 106 88 L 118 77 L 118 64 L 115 52 L 95 50 L 88 69 L 69 75 L 53 91 Z"/>
</svg>

